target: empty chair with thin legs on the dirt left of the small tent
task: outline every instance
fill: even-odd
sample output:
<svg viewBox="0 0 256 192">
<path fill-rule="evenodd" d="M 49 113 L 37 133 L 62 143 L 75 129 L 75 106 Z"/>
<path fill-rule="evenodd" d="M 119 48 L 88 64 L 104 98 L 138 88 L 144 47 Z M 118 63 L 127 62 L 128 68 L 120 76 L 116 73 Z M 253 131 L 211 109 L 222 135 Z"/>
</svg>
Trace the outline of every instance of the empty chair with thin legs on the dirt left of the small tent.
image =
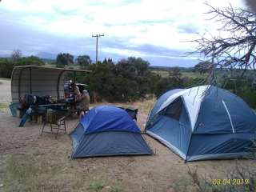
<svg viewBox="0 0 256 192">
<path fill-rule="evenodd" d="M 55 138 L 58 137 L 58 131 L 64 130 L 66 134 L 66 117 L 58 110 L 47 110 L 46 119 L 44 119 L 41 134 L 46 126 L 50 126 L 50 132 L 54 133 L 53 130 L 57 130 Z"/>
</svg>

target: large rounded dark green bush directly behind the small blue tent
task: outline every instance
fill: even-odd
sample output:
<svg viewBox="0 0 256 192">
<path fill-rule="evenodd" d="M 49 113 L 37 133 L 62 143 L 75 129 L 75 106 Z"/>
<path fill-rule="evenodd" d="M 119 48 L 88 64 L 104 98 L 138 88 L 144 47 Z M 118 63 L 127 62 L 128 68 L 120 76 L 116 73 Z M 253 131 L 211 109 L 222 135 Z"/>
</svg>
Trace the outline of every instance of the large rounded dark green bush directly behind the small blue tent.
<svg viewBox="0 0 256 192">
<path fill-rule="evenodd" d="M 122 59 L 116 65 L 111 59 L 90 65 L 93 70 L 89 78 L 92 99 L 108 102 L 130 102 L 146 98 L 154 92 L 154 74 L 149 70 L 149 62 L 142 58 Z"/>
</svg>

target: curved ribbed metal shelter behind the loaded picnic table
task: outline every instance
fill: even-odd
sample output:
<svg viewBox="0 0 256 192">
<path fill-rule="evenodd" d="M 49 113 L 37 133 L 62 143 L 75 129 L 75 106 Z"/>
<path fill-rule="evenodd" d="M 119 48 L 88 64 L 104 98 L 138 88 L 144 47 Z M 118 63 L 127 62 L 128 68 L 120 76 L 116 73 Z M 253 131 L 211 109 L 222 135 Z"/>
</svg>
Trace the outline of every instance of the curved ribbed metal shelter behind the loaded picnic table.
<svg viewBox="0 0 256 192">
<path fill-rule="evenodd" d="M 11 77 L 12 102 L 18 102 L 24 94 L 56 98 L 64 97 L 64 75 L 66 72 L 87 73 L 90 70 L 73 70 L 44 66 L 15 66 Z"/>
</svg>

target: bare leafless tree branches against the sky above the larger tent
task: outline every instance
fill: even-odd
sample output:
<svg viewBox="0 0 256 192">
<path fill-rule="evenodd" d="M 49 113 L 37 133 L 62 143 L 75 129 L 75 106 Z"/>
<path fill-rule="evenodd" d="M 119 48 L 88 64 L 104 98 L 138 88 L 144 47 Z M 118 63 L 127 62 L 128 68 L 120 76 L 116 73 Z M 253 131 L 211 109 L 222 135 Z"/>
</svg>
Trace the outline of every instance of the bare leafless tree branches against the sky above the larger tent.
<svg viewBox="0 0 256 192">
<path fill-rule="evenodd" d="M 256 55 L 256 14 L 250 10 L 234 9 L 231 5 L 225 9 L 210 7 L 207 14 L 213 15 L 222 23 L 221 30 L 225 31 L 227 37 L 212 36 L 204 34 L 201 38 L 192 42 L 197 43 L 197 50 L 205 57 L 202 68 L 211 69 L 211 80 L 214 81 L 214 70 L 220 69 L 242 69 L 243 73 L 248 69 L 255 70 Z M 208 36 L 207 36 L 208 35 Z"/>
</svg>

